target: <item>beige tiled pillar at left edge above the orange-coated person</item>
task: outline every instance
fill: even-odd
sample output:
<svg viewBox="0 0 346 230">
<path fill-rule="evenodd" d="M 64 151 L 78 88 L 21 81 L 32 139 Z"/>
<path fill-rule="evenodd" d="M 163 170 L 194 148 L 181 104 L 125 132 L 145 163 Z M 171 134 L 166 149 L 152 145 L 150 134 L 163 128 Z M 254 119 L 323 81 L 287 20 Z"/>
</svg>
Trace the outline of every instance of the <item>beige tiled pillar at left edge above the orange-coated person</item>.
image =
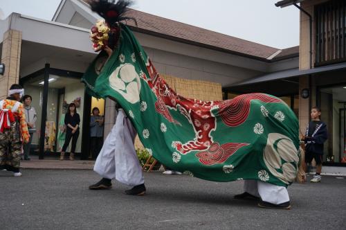
<svg viewBox="0 0 346 230">
<path fill-rule="evenodd" d="M 6 98 L 12 84 L 19 83 L 21 60 L 21 31 L 8 30 L 3 34 L 1 63 L 5 64 L 5 73 L 0 76 L 0 100 Z"/>
</svg>

